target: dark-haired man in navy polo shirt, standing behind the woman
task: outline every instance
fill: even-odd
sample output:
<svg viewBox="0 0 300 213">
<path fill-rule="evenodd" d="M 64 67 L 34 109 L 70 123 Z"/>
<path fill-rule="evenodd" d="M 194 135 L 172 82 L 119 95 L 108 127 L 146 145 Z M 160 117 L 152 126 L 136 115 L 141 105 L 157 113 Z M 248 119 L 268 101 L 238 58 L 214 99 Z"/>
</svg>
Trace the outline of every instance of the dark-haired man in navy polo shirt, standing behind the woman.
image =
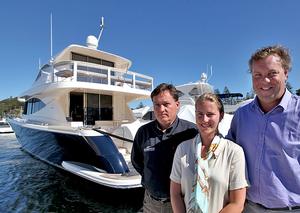
<svg viewBox="0 0 300 213">
<path fill-rule="evenodd" d="M 172 84 L 162 83 L 151 93 L 156 120 L 136 133 L 131 161 L 142 176 L 145 188 L 143 212 L 172 212 L 170 173 L 178 144 L 192 140 L 196 125 L 179 119 L 178 93 Z"/>
</svg>

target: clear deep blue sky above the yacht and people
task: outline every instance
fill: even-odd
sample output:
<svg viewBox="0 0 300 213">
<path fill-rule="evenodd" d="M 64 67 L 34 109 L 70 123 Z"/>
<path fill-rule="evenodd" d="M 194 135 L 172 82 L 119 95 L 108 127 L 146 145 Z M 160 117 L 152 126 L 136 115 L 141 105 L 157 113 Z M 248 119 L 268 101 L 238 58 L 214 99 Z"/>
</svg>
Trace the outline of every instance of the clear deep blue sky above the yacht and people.
<svg viewBox="0 0 300 213">
<path fill-rule="evenodd" d="M 195 82 L 213 67 L 209 83 L 221 92 L 251 91 L 248 59 L 270 44 L 287 46 L 300 88 L 298 0 L 26 0 L 0 7 L 0 100 L 18 96 L 35 79 L 39 60 L 70 44 L 85 45 L 105 29 L 100 49 L 132 60 L 130 70 L 154 77 L 154 85 Z"/>
</svg>

